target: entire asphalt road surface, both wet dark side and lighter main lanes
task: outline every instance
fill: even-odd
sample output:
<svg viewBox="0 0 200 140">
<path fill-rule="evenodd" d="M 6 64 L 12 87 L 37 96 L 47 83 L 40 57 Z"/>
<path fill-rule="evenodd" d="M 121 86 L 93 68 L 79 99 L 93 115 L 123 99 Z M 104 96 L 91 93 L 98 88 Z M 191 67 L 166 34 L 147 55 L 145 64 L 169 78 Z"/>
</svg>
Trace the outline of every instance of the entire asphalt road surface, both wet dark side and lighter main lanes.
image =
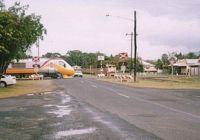
<svg viewBox="0 0 200 140">
<path fill-rule="evenodd" d="M 44 81 L 45 82 L 45 81 Z M 92 78 L 0 100 L 0 140 L 199 140 L 200 91 L 132 88 Z"/>
</svg>

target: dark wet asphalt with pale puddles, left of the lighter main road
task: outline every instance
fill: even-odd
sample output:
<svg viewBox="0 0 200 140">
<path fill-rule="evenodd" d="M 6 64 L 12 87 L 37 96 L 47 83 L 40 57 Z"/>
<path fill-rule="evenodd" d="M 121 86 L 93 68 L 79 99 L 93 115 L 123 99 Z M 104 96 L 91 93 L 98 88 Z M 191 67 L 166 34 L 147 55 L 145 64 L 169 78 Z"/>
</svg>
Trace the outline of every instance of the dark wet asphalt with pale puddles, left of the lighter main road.
<svg viewBox="0 0 200 140">
<path fill-rule="evenodd" d="M 0 140 L 159 140 L 64 91 L 0 100 Z"/>
</svg>

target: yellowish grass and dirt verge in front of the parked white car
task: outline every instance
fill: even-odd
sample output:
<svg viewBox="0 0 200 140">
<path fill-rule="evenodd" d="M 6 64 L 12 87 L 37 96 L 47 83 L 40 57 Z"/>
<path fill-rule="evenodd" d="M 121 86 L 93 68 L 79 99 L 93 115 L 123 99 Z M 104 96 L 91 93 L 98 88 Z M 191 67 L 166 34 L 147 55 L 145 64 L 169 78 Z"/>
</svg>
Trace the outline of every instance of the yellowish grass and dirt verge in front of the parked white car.
<svg viewBox="0 0 200 140">
<path fill-rule="evenodd" d="M 22 80 L 16 85 L 0 88 L 0 98 L 15 97 L 29 93 L 51 91 L 55 89 L 52 80 Z"/>
</svg>

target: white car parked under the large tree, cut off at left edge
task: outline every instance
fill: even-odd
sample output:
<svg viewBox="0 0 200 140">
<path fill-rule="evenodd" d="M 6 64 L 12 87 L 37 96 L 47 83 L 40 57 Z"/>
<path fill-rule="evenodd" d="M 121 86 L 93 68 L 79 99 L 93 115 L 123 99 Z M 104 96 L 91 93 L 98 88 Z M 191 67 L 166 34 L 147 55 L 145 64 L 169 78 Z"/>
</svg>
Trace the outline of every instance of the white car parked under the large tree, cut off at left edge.
<svg viewBox="0 0 200 140">
<path fill-rule="evenodd" d="M 16 84 L 16 77 L 11 75 L 0 75 L 0 87 Z"/>
</svg>

